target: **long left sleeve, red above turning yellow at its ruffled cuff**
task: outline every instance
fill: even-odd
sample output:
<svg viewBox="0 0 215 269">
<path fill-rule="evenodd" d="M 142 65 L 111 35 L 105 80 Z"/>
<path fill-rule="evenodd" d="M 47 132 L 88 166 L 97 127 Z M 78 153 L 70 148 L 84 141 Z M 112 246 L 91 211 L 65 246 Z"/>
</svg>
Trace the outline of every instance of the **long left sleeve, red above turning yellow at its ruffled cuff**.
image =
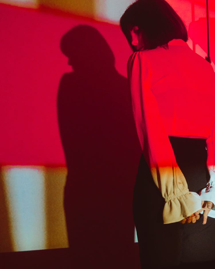
<svg viewBox="0 0 215 269">
<path fill-rule="evenodd" d="M 165 199 L 163 222 L 178 222 L 201 209 L 201 200 L 197 193 L 188 190 L 185 177 L 175 160 L 157 100 L 150 89 L 152 70 L 146 53 L 132 54 L 127 67 L 140 145 L 153 180 Z"/>
</svg>

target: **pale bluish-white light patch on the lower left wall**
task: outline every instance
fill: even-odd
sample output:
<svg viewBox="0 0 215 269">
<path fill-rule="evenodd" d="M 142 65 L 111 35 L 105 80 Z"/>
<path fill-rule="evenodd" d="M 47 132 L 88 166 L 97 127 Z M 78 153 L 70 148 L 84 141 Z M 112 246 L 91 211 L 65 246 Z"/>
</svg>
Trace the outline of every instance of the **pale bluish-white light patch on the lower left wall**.
<svg viewBox="0 0 215 269">
<path fill-rule="evenodd" d="M 14 251 L 45 248 L 44 175 L 42 169 L 8 168 L 4 173 Z"/>
</svg>

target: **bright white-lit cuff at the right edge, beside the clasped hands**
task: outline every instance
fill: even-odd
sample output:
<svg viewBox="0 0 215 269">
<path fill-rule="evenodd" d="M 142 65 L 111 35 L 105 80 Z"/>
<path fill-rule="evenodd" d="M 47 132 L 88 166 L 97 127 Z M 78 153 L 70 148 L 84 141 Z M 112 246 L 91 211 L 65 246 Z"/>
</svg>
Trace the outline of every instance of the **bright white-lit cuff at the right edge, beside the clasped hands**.
<svg viewBox="0 0 215 269">
<path fill-rule="evenodd" d="M 204 189 L 199 193 L 201 201 L 210 201 L 215 205 L 215 172 L 209 171 L 210 180 Z M 203 213 L 203 211 L 201 212 Z M 215 218 L 215 206 L 210 210 L 208 216 Z"/>
</svg>

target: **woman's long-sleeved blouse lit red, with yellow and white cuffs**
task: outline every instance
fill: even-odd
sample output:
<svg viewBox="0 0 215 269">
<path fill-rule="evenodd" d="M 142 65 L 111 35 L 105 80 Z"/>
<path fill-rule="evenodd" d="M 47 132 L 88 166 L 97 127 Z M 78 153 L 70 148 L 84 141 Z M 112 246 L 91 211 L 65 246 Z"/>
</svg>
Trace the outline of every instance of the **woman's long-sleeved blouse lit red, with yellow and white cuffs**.
<svg viewBox="0 0 215 269">
<path fill-rule="evenodd" d="M 215 73 L 183 40 L 168 45 L 133 53 L 127 66 L 138 138 L 165 199 L 164 224 L 200 210 L 201 200 L 215 204 Z M 189 191 L 169 136 L 206 139 L 210 180 L 199 194 Z"/>
</svg>

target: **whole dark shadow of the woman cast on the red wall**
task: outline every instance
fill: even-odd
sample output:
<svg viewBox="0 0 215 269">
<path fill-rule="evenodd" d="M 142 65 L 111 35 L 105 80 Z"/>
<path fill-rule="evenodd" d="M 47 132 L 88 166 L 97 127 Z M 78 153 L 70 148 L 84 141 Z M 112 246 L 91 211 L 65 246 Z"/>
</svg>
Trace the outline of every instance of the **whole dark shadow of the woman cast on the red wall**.
<svg viewBox="0 0 215 269">
<path fill-rule="evenodd" d="M 138 268 L 132 195 L 140 146 L 127 79 L 91 26 L 72 28 L 60 46 L 73 68 L 63 74 L 57 100 L 71 266 Z"/>
</svg>

